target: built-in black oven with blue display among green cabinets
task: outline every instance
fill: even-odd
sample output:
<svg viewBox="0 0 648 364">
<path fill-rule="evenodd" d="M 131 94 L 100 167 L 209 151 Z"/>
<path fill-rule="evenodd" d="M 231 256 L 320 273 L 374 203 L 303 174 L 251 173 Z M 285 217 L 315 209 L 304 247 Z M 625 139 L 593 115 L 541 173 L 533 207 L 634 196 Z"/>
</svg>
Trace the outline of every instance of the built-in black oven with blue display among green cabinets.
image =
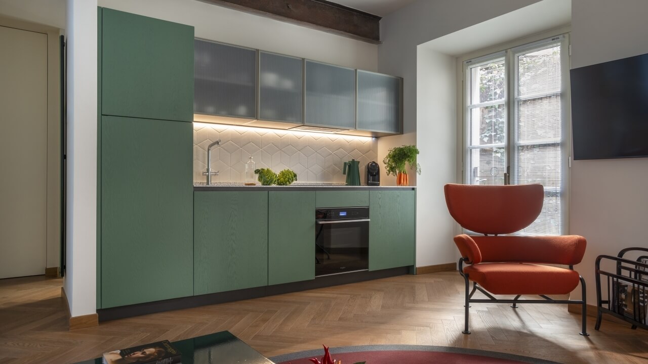
<svg viewBox="0 0 648 364">
<path fill-rule="evenodd" d="M 369 207 L 316 209 L 315 276 L 369 269 Z"/>
</svg>

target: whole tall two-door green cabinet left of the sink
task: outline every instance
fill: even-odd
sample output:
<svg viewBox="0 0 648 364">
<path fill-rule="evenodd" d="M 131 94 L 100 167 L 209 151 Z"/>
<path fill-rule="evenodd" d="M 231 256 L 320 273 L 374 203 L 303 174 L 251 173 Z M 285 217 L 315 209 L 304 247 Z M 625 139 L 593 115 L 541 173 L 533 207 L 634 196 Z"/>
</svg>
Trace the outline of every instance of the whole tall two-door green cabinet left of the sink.
<svg viewBox="0 0 648 364">
<path fill-rule="evenodd" d="M 97 308 L 191 296 L 194 28 L 98 17 Z"/>
</svg>

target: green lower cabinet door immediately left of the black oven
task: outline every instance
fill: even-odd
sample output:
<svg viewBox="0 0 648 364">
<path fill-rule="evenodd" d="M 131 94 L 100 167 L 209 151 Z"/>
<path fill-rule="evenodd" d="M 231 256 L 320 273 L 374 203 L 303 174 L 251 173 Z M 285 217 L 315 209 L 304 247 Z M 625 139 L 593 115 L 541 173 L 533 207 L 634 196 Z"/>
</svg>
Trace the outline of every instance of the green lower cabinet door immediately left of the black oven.
<svg viewBox="0 0 648 364">
<path fill-rule="evenodd" d="M 315 192 L 268 194 L 268 284 L 315 279 Z"/>
</svg>

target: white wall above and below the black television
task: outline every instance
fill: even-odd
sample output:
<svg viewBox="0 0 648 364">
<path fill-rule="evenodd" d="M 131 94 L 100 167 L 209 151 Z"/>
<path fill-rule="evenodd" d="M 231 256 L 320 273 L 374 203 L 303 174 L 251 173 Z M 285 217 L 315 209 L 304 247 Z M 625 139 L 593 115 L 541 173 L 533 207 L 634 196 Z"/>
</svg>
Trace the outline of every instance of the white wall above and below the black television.
<svg viewBox="0 0 648 364">
<path fill-rule="evenodd" d="M 646 14 L 645 0 L 572 0 L 572 68 L 648 53 Z M 588 244 L 577 269 L 596 304 L 596 256 L 648 247 L 648 158 L 573 161 L 571 178 L 570 233 Z"/>
</svg>

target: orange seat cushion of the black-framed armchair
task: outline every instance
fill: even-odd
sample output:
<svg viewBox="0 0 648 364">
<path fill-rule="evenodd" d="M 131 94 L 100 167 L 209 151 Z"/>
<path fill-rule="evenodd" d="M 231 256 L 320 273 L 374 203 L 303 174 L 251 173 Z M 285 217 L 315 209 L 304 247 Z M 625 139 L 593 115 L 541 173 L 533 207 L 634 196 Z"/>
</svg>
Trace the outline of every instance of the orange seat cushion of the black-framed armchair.
<svg viewBox="0 0 648 364">
<path fill-rule="evenodd" d="M 577 271 L 540 264 L 482 263 L 463 273 L 496 295 L 566 295 L 579 283 Z"/>
</svg>

